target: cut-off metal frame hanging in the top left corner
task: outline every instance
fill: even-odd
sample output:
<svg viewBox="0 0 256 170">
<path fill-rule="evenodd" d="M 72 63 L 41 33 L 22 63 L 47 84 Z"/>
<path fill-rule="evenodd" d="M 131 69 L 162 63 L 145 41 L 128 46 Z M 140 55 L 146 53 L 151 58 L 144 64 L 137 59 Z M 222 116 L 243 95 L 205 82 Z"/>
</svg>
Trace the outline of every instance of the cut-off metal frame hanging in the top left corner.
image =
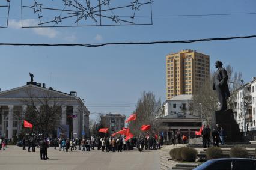
<svg viewBox="0 0 256 170">
<path fill-rule="evenodd" d="M 0 28 L 7 28 L 11 0 L 0 0 Z"/>
</svg>

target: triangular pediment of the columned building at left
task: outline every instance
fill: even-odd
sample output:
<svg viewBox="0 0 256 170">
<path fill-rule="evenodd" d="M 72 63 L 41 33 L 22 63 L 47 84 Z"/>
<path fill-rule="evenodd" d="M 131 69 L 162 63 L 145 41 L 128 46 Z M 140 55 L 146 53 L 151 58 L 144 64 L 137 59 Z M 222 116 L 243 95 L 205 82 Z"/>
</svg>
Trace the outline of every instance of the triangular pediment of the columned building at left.
<svg viewBox="0 0 256 170">
<path fill-rule="evenodd" d="M 22 99 L 22 98 L 62 98 L 62 99 L 79 99 L 79 97 L 71 96 L 56 90 L 38 87 L 36 85 L 25 85 L 23 87 L 13 88 L 11 90 L 2 91 L 0 99 Z"/>
</svg>

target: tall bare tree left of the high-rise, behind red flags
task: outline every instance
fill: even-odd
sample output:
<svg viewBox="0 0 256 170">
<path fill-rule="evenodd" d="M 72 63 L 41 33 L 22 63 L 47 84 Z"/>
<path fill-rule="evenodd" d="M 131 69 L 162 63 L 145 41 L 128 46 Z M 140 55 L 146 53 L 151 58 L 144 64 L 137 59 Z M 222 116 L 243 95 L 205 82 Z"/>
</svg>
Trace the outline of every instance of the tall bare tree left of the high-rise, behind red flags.
<svg viewBox="0 0 256 170">
<path fill-rule="evenodd" d="M 133 135 L 144 135 L 141 131 L 141 126 L 143 124 L 151 125 L 149 133 L 157 133 L 158 126 L 156 117 L 159 114 L 159 109 L 161 108 L 161 100 L 156 101 L 156 96 L 152 92 L 143 92 L 141 98 L 138 100 L 136 105 L 135 113 L 136 120 L 130 121 L 129 127 Z"/>
</svg>

